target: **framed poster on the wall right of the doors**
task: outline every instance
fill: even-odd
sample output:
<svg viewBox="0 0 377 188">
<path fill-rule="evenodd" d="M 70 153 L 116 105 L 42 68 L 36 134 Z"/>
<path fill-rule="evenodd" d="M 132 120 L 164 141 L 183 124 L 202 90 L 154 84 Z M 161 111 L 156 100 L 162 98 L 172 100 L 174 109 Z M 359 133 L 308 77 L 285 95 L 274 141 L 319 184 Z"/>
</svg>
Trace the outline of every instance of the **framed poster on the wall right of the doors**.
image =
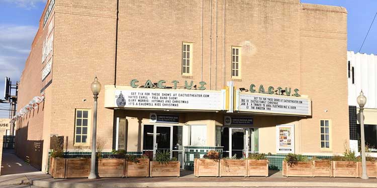
<svg viewBox="0 0 377 188">
<path fill-rule="evenodd" d="M 276 153 L 295 153 L 295 125 L 276 125 Z"/>
</svg>

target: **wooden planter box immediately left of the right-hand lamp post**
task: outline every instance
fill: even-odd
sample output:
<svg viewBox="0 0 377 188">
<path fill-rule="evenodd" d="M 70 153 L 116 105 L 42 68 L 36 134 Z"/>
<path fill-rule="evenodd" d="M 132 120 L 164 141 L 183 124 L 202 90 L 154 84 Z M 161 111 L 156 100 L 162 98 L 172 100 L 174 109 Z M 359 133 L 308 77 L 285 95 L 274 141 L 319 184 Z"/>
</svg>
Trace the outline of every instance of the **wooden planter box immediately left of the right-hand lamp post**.
<svg viewBox="0 0 377 188">
<path fill-rule="evenodd" d="M 359 167 L 357 162 L 353 161 L 332 161 L 334 177 L 358 177 Z"/>
</svg>

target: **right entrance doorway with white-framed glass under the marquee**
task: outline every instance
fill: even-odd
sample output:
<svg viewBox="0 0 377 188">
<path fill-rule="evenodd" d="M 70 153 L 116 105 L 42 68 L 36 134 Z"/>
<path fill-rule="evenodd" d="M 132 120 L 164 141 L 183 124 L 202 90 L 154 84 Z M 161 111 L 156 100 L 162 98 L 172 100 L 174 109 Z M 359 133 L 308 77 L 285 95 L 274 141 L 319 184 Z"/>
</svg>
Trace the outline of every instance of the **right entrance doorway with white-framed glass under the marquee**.
<svg viewBox="0 0 377 188">
<path fill-rule="evenodd" d="M 259 150 L 257 128 L 223 127 L 221 134 L 224 157 L 248 157 Z"/>
</svg>

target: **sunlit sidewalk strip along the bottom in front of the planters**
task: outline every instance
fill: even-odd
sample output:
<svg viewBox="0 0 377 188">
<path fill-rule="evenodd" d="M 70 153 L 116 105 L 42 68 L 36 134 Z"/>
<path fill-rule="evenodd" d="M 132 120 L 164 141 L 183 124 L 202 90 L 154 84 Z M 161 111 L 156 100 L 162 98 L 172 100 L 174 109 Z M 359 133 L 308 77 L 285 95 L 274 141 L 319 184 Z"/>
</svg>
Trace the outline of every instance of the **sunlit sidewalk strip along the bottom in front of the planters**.
<svg viewBox="0 0 377 188">
<path fill-rule="evenodd" d="M 185 174 L 184 174 L 185 173 Z M 377 179 L 330 177 L 282 177 L 276 172 L 269 177 L 194 177 L 187 171 L 181 177 L 129 178 L 44 178 L 32 180 L 38 187 L 377 187 Z"/>
</svg>

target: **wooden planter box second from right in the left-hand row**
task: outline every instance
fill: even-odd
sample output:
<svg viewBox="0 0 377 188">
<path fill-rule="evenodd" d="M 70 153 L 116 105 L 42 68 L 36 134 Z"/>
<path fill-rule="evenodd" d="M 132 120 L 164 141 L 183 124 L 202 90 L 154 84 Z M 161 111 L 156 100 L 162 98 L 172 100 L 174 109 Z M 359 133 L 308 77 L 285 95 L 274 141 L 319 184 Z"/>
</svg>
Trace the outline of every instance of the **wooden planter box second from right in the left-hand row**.
<svg viewBox="0 0 377 188">
<path fill-rule="evenodd" d="M 148 177 L 149 176 L 149 158 L 138 158 L 139 162 L 126 161 L 126 177 Z"/>
</svg>

